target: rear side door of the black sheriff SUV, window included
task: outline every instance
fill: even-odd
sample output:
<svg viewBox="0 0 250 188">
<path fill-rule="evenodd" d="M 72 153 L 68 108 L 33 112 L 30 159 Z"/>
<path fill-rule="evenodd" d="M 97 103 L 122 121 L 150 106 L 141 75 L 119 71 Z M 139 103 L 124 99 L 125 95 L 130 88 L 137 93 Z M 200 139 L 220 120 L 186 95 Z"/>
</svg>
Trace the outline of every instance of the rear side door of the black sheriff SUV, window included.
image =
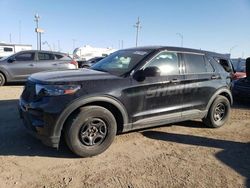
<svg viewBox="0 0 250 188">
<path fill-rule="evenodd" d="M 182 53 L 182 59 L 185 71 L 182 115 L 199 115 L 206 109 L 221 78 L 204 54 Z"/>
</svg>

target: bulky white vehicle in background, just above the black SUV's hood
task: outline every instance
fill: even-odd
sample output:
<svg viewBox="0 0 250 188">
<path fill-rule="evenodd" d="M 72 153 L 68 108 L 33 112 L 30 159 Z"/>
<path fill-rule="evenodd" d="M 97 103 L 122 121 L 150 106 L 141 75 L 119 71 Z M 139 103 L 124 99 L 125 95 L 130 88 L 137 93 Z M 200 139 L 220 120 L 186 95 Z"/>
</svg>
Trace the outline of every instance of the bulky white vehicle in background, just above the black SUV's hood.
<svg viewBox="0 0 250 188">
<path fill-rule="evenodd" d="M 105 57 L 115 52 L 113 48 L 95 48 L 89 45 L 85 45 L 80 48 L 76 48 L 73 51 L 73 58 L 77 62 L 86 62 L 94 57 Z"/>
</svg>

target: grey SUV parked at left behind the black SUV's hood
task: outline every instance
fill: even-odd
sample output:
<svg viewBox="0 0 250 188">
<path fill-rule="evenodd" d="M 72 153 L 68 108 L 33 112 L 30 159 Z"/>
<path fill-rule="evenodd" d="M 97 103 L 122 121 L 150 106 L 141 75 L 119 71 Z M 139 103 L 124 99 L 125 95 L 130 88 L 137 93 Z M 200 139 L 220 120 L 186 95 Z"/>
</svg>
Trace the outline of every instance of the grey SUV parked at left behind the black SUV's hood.
<svg viewBox="0 0 250 188">
<path fill-rule="evenodd" d="M 77 62 L 64 53 L 21 51 L 0 59 L 0 86 L 8 82 L 24 82 L 36 72 L 77 68 Z"/>
</svg>

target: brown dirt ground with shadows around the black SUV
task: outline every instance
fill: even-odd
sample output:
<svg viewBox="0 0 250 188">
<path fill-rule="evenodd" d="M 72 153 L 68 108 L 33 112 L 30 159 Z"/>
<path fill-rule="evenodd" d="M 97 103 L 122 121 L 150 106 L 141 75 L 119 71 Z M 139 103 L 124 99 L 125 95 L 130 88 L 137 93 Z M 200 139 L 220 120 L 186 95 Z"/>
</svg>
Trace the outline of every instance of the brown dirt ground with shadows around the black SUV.
<svg viewBox="0 0 250 188">
<path fill-rule="evenodd" d="M 235 106 L 219 129 L 189 121 L 131 132 L 77 158 L 26 133 L 21 91 L 0 87 L 0 187 L 250 187 L 250 105 Z"/>
</svg>

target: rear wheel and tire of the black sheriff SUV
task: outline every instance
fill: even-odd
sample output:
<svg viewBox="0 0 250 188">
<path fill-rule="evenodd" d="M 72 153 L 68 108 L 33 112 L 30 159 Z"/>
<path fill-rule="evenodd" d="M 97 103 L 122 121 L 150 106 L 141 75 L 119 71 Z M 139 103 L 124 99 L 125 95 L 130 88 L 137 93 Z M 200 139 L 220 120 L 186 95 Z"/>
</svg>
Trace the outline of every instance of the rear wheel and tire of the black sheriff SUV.
<svg viewBox="0 0 250 188">
<path fill-rule="evenodd" d="M 203 119 L 203 122 L 210 128 L 221 127 L 228 121 L 230 112 L 231 106 L 229 100 L 219 95 L 211 105 L 207 117 Z"/>
</svg>

